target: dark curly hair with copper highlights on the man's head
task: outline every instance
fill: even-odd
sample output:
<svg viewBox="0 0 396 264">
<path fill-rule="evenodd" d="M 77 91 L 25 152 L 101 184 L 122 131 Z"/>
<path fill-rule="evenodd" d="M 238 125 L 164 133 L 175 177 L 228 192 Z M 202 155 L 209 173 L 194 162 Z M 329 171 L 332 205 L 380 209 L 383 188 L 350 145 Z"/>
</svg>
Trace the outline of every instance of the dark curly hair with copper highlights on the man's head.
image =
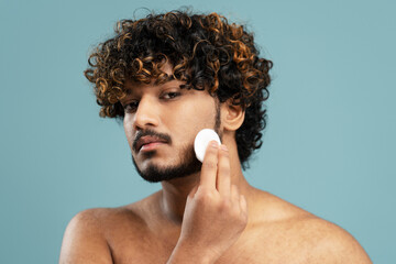
<svg viewBox="0 0 396 264">
<path fill-rule="evenodd" d="M 241 165 L 249 167 L 249 157 L 263 143 L 263 101 L 270 96 L 268 72 L 273 66 L 258 57 L 253 34 L 217 13 L 188 11 L 121 20 L 114 33 L 90 54 L 84 72 L 101 106 L 99 116 L 123 119 L 120 99 L 127 96 L 127 79 L 144 84 L 182 80 L 182 88 L 207 89 L 220 102 L 231 99 L 232 105 L 242 107 L 245 118 L 235 141 Z M 161 70 L 166 63 L 173 66 L 172 76 Z"/>
</svg>

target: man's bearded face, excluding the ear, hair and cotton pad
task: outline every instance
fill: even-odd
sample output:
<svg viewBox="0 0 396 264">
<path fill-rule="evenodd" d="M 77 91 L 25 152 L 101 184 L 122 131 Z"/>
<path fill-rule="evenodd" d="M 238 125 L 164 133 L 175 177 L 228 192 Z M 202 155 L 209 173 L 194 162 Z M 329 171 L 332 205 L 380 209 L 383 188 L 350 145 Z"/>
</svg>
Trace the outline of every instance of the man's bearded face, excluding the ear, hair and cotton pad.
<svg viewBox="0 0 396 264">
<path fill-rule="evenodd" d="M 131 94 L 121 103 L 132 162 L 151 183 L 198 173 L 201 163 L 194 152 L 196 134 L 208 128 L 220 132 L 220 106 L 215 98 L 207 91 L 180 89 L 182 84 L 125 82 Z"/>
</svg>

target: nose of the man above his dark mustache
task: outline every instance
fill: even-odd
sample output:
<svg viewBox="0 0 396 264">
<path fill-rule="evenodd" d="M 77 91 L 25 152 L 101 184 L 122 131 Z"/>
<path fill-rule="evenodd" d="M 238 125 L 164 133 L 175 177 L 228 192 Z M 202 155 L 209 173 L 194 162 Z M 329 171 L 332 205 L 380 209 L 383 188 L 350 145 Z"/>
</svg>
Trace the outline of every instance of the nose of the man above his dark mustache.
<svg viewBox="0 0 396 264">
<path fill-rule="evenodd" d="M 160 123 L 158 107 L 155 99 L 151 97 L 142 97 L 139 101 L 138 109 L 134 114 L 133 127 L 135 130 L 144 130 L 157 127 Z"/>
</svg>

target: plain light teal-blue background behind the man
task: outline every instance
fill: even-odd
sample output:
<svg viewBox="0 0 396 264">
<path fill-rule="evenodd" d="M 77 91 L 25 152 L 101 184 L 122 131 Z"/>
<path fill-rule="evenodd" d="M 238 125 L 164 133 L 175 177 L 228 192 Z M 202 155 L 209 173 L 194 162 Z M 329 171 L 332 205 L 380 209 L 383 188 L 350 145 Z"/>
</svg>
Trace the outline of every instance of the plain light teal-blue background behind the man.
<svg viewBox="0 0 396 264">
<path fill-rule="evenodd" d="M 248 23 L 275 64 L 248 180 L 341 226 L 375 263 L 395 263 L 391 0 L 0 0 L 0 263 L 56 263 L 78 211 L 161 188 L 134 172 L 123 128 L 99 118 L 82 70 L 117 20 L 182 6 Z"/>
</svg>

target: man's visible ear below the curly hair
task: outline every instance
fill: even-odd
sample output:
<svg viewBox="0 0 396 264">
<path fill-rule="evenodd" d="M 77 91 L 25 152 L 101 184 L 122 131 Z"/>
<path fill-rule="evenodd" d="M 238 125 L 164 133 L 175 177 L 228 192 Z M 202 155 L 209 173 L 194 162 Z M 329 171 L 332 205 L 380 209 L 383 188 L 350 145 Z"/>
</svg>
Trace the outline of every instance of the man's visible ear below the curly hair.
<svg viewBox="0 0 396 264">
<path fill-rule="evenodd" d="M 221 105 L 221 123 L 224 130 L 237 131 L 244 121 L 245 111 L 241 106 L 233 106 L 232 98 Z"/>
</svg>

